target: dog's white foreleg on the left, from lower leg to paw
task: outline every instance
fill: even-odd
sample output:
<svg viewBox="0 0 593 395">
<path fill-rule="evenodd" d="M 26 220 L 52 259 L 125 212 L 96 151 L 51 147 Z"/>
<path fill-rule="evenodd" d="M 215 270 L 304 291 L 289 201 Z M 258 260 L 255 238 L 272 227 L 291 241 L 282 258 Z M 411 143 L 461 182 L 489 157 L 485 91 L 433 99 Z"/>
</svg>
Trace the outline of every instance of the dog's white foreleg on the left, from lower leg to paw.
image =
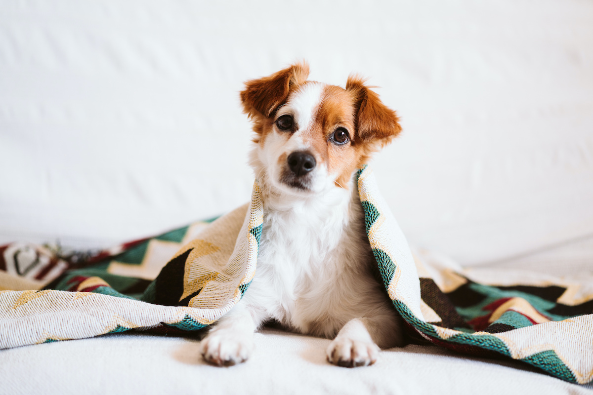
<svg viewBox="0 0 593 395">
<path fill-rule="evenodd" d="M 253 332 L 259 323 L 247 306 L 237 304 L 223 316 L 200 343 L 206 362 L 230 366 L 246 361 L 253 351 Z"/>
</svg>

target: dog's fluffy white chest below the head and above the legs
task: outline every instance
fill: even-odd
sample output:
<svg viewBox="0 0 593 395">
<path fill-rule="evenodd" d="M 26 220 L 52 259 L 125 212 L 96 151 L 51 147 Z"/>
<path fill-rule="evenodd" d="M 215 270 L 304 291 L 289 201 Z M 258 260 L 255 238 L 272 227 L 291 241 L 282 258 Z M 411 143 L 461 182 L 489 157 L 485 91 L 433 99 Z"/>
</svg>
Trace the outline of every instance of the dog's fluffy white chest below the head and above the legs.
<svg viewBox="0 0 593 395">
<path fill-rule="evenodd" d="M 339 329 L 341 319 L 335 325 L 328 322 L 337 306 L 349 304 L 343 290 L 361 280 L 360 266 L 368 262 L 370 252 L 362 210 L 358 206 L 353 211 L 315 216 L 294 211 L 266 213 L 256 277 L 246 294 L 248 303 L 299 332 L 317 333 L 314 326 L 320 321 L 325 322 L 324 330 Z"/>
</svg>

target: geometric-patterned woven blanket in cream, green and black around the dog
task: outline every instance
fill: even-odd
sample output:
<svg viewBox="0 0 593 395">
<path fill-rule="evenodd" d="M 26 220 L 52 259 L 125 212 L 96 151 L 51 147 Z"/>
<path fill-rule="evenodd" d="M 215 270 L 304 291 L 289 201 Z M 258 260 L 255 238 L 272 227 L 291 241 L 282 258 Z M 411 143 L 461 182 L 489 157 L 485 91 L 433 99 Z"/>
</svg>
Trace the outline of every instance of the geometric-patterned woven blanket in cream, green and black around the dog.
<svg viewBox="0 0 593 395">
<path fill-rule="evenodd" d="M 359 170 L 356 181 L 382 281 L 413 338 L 517 359 L 572 383 L 593 380 L 593 284 L 525 272 L 501 276 L 428 253 L 415 256 L 371 169 Z M 0 348 L 208 326 L 248 292 L 262 221 L 256 182 L 250 203 L 212 223 L 127 243 L 82 263 L 40 246 L 0 247 Z"/>
</svg>

